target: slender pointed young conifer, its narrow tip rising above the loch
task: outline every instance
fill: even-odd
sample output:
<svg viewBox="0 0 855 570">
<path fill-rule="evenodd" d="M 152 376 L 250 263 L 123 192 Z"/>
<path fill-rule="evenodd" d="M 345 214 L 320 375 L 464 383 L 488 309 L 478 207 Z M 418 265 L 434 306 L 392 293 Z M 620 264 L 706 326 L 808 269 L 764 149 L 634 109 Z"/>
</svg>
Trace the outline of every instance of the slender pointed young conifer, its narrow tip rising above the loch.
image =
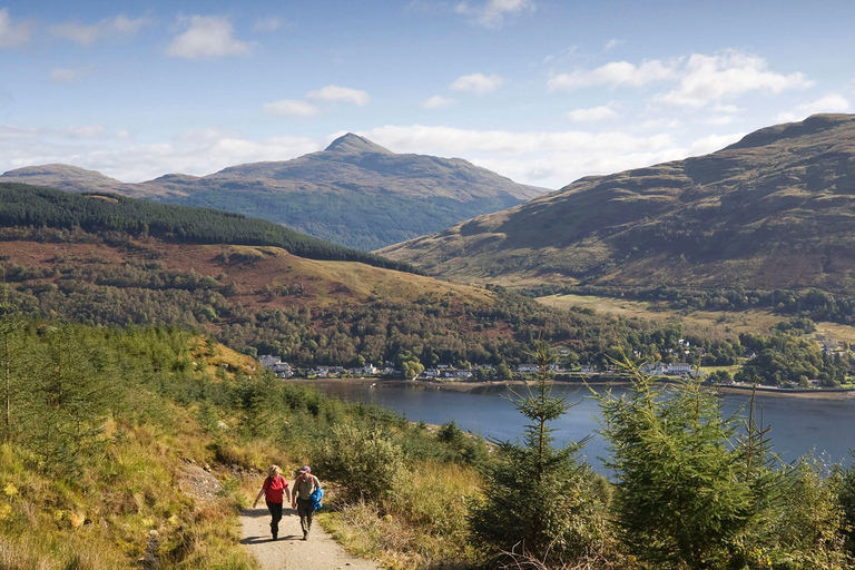
<svg viewBox="0 0 855 570">
<path fill-rule="evenodd" d="M 593 475 L 576 455 L 584 441 L 553 446 L 552 422 L 572 405 L 551 394 L 552 357 L 539 343 L 540 376 L 527 396 L 511 399 L 528 420 L 522 443 L 498 444 L 498 462 L 488 468 L 484 500 L 470 525 L 480 546 L 499 560 L 523 557 L 547 567 L 588 554 L 602 538 L 602 509 L 592 491 Z"/>
</svg>

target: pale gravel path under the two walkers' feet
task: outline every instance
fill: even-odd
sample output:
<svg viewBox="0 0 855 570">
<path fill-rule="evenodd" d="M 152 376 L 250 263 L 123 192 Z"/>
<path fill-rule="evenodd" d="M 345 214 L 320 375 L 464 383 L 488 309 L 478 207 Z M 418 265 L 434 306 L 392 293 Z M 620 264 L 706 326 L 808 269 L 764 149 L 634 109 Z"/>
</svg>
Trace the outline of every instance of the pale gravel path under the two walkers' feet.
<svg viewBox="0 0 855 570">
<path fill-rule="evenodd" d="M 308 540 L 302 540 L 299 517 L 294 509 L 283 511 L 279 540 L 271 537 L 271 514 L 266 507 L 240 513 L 242 544 L 258 560 L 263 570 L 379 570 L 368 560 L 344 551 L 317 523 L 312 524 Z"/>
</svg>

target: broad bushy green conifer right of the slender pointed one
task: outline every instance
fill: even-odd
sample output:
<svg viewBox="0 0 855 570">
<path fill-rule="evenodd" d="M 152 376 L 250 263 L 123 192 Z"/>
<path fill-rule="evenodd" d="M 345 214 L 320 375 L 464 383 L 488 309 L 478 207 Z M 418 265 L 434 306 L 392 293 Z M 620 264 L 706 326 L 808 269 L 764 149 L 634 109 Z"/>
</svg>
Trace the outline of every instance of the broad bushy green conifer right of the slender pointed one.
<svg viewBox="0 0 855 570">
<path fill-rule="evenodd" d="M 734 450 L 739 420 L 723 417 L 698 380 L 658 384 L 625 364 L 626 396 L 599 396 L 619 538 L 652 568 L 728 568 L 757 512 L 743 461 L 757 450 Z"/>
</svg>

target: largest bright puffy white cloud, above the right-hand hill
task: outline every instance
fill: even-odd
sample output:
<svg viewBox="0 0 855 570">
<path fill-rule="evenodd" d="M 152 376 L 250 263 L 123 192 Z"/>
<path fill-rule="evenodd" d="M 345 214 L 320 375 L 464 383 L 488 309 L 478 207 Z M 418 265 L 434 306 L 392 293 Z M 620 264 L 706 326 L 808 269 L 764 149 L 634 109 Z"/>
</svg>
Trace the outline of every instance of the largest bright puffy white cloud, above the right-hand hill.
<svg viewBox="0 0 855 570">
<path fill-rule="evenodd" d="M 680 70 L 676 89 L 659 96 L 661 102 L 704 107 L 748 91 L 779 94 L 787 89 L 805 89 L 814 85 L 804 73 L 778 73 L 768 69 L 758 56 L 727 50 L 717 56 L 694 53 Z"/>
</svg>

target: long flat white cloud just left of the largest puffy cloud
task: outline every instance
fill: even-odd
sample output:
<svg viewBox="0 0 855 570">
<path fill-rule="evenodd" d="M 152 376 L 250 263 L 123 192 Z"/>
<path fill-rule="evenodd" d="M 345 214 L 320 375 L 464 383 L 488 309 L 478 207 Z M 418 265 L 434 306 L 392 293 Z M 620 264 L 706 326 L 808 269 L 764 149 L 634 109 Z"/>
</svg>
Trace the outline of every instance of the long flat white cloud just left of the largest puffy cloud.
<svg viewBox="0 0 855 570">
<path fill-rule="evenodd" d="M 577 69 L 570 73 L 558 73 L 549 78 L 550 91 L 573 91 L 584 87 L 608 85 L 611 87 L 642 87 L 655 81 L 675 77 L 679 60 L 645 60 L 639 66 L 629 61 L 612 61 L 597 69 Z"/>
</svg>

